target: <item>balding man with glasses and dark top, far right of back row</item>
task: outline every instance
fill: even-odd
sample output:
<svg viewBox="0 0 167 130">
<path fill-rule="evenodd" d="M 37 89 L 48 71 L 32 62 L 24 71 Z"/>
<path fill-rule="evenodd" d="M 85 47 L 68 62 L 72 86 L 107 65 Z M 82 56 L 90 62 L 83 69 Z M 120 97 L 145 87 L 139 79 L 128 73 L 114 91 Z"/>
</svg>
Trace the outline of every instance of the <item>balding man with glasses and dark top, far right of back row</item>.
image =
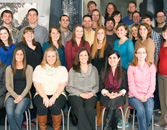
<svg viewBox="0 0 167 130">
<path fill-rule="evenodd" d="M 156 14 L 156 21 L 157 21 L 157 26 L 154 28 L 154 30 L 158 33 L 162 33 L 162 27 L 165 25 L 165 20 L 166 20 L 166 16 L 165 16 L 165 12 L 163 11 L 159 11 Z"/>
</svg>

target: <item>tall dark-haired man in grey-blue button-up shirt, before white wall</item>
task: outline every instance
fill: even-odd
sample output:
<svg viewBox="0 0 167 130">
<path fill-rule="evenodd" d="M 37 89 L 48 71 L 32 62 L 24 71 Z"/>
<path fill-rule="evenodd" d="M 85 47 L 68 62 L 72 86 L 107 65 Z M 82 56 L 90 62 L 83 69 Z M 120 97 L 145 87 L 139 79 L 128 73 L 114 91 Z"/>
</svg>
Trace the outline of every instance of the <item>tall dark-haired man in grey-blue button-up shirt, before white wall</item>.
<svg viewBox="0 0 167 130">
<path fill-rule="evenodd" d="M 27 25 L 26 27 L 31 27 L 34 29 L 35 41 L 39 42 L 41 44 L 41 46 L 43 46 L 44 42 L 48 41 L 48 31 L 45 27 L 43 27 L 37 23 L 38 11 L 35 8 L 29 9 L 27 18 L 28 18 L 29 25 Z M 22 32 L 23 32 L 24 28 L 26 28 L 26 27 L 23 27 L 20 30 L 18 42 L 22 41 Z"/>
</svg>

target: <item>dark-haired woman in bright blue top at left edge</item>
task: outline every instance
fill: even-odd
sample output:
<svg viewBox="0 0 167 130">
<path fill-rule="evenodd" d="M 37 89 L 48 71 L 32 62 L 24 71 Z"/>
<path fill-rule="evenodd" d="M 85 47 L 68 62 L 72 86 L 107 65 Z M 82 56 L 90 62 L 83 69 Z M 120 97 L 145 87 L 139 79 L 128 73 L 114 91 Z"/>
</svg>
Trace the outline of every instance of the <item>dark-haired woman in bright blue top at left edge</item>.
<svg viewBox="0 0 167 130">
<path fill-rule="evenodd" d="M 7 66 L 12 63 L 12 53 L 15 44 L 12 43 L 12 38 L 9 30 L 6 27 L 0 28 L 0 60 Z"/>
</svg>

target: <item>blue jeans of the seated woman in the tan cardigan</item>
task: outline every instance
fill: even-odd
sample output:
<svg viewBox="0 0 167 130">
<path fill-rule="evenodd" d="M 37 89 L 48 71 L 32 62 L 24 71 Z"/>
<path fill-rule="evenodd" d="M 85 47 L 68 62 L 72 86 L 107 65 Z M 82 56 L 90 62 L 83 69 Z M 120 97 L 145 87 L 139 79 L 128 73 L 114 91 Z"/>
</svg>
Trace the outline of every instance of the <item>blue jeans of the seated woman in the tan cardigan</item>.
<svg viewBox="0 0 167 130">
<path fill-rule="evenodd" d="M 13 97 L 8 97 L 5 102 L 6 114 L 10 130 L 21 130 L 23 122 L 23 113 L 30 105 L 30 99 L 25 97 L 18 104 L 15 104 Z"/>
</svg>

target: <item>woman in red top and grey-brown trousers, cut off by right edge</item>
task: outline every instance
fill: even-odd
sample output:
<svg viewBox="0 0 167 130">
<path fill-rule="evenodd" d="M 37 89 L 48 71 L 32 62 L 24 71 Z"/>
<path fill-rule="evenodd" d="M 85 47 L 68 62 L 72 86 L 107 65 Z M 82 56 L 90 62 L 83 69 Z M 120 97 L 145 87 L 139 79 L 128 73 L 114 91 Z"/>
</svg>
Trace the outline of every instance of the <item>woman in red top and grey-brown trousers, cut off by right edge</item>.
<svg viewBox="0 0 167 130">
<path fill-rule="evenodd" d="M 161 116 L 155 126 L 165 126 L 167 129 L 167 24 L 162 28 L 162 36 L 164 42 L 161 44 L 159 51 L 159 72 L 158 72 L 158 86 L 159 86 L 159 100 L 161 106 Z"/>
</svg>

